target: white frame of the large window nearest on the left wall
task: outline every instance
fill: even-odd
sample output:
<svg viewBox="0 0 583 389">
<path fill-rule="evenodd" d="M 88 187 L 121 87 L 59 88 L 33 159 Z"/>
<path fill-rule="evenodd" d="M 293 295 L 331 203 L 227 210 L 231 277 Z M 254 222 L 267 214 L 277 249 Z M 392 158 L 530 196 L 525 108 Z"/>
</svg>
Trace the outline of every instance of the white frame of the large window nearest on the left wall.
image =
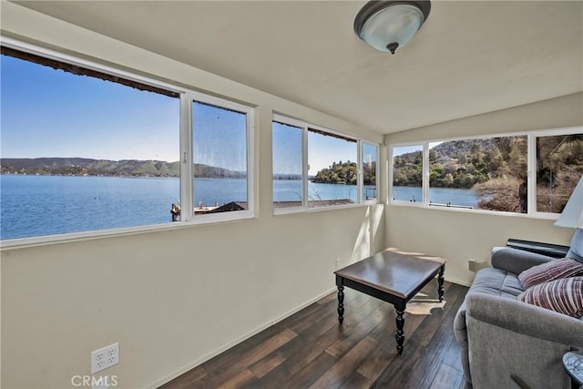
<svg viewBox="0 0 583 389">
<path fill-rule="evenodd" d="M 19 40 L 3 36 L 0 46 L 15 49 L 34 56 L 42 56 L 50 60 L 62 62 L 76 67 L 84 67 L 87 70 L 93 70 L 98 73 L 106 74 L 113 77 L 122 77 L 128 81 L 133 81 L 141 85 L 167 90 L 170 93 L 179 95 L 179 196 L 180 208 L 182 215 L 191 215 L 187 220 L 168 221 L 159 224 L 143 224 L 132 227 L 119 227 L 105 230 L 87 230 L 77 232 L 66 232 L 53 235 L 39 235 L 23 238 L 0 240 L 2 249 L 17 248 L 22 246 L 37 246 L 65 241 L 89 240 L 100 237 L 133 235 L 136 233 L 158 231 L 158 230 L 177 230 L 189 228 L 196 225 L 212 224 L 223 221 L 246 220 L 256 218 L 255 204 L 255 109 L 253 106 L 234 102 L 220 97 L 213 97 L 203 94 L 188 87 L 179 87 L 169 82 L 160 81 L 152 77 L 144 77 L 138 74 L 102 65 L 97 62 L 79 58 L 77 56 L 67 55 L 56 50 L 48 49 L 21 42 Z M 192 102 L 199 101 L 211 104 L 217 107 L 225 107 L 246 115 L 246 141 L 247 141 L 247 203 L 248 210 L 222 212 L 210 215 L 194 215 L 193 208 L 193 185 L 192 176 L 193 145 L 192 145 Z M 170 204 L 169 204 L 170 207 Z"/>
</svg>

